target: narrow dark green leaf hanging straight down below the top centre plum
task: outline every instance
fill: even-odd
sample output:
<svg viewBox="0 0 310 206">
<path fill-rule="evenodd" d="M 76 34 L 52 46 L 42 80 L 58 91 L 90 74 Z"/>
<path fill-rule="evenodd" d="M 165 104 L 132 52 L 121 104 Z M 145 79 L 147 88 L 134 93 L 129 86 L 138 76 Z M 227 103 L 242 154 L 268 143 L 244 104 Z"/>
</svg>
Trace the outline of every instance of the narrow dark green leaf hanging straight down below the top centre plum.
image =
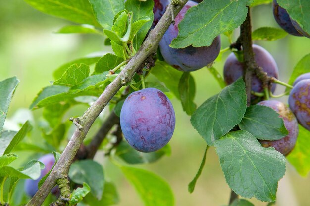
<svg viewBox="0 0 310 206">
<path fill-rule="evenodd" d="M 194 103 L 196 86 L 193 76 L 189 72 L 184 72 L 179 82 L 179 93 L 183 110 L 188 115 L 192 115 L 197 105 Z"/>
</svg>

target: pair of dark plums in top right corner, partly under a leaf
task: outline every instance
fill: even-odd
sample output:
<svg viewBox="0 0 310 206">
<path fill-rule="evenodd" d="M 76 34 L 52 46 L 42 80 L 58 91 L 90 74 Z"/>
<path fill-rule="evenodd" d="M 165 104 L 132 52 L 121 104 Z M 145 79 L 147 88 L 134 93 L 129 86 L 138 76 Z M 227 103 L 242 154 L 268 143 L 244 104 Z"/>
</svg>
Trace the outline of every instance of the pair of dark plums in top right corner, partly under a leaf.
<svg viewBox="0 0 310 206">
<path fill-rule="evenodd" d="M 294 35 L 294 36 L 305 36 L 305 37 L 310 38 L 310 34 L 305 32 L 301 28 L 301 26 L 289 16 L 287 11 L 281 6 L 279 6 L 279 4 L 277 3 L 277 0 L 273 0 L 272 8 L 273 8 L 273 16 L 276 22 L 287 33 Z"/>
</svg>

